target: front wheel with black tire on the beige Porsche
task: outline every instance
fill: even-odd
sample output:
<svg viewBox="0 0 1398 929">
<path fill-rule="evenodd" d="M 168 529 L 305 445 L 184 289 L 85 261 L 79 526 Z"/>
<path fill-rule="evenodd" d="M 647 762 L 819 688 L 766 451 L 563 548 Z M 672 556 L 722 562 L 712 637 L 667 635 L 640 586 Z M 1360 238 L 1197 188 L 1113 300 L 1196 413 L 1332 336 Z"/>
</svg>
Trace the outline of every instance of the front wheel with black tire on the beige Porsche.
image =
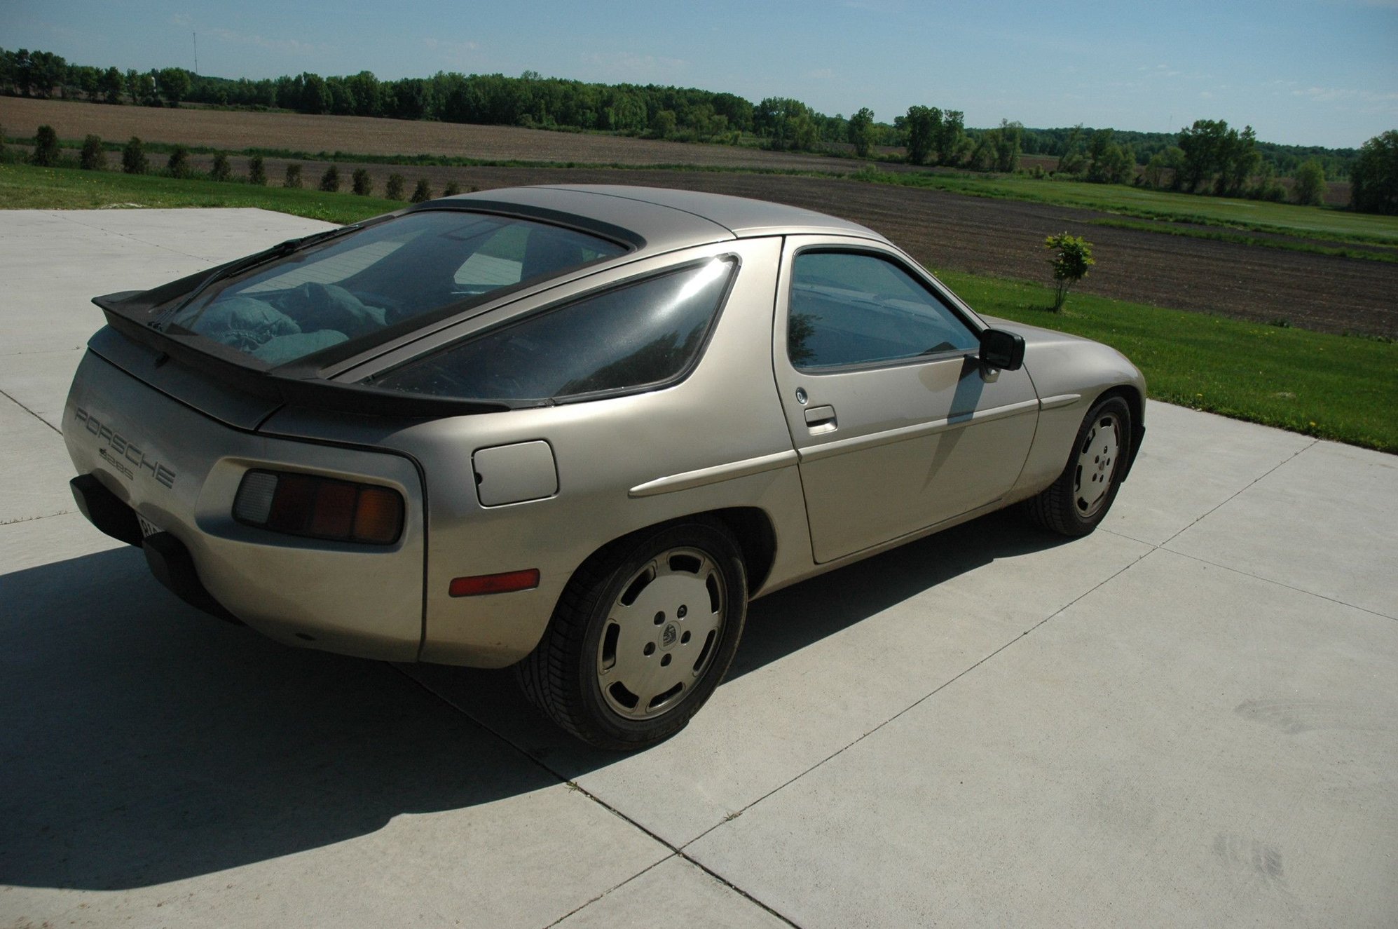
<svg viewBox="0 0 1398 929">
<path fill-rule="evenodd" d="M 1029 516 L 1051 532 L 1086 536 L 1117 498 L 1131 460 L 1131 407 L 1118 396 L 1100 400 L 1078 427 L 1068 463 L 1053 484 L 1026 501 Z"/>
</svg>

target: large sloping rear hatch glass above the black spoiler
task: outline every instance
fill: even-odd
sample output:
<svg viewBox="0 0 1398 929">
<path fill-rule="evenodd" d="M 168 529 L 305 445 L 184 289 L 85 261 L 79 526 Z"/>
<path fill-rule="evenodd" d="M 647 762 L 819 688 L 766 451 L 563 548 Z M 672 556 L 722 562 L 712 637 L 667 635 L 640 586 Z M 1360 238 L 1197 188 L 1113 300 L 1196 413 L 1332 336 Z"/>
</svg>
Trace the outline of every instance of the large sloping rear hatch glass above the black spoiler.
<svg viewBox="0 0 1398 929">
<path fill-rule="evenodd" d="M 165 332 L 203 336 L 275 367 L 625 250 L 528 220 L 410 213 L 215 285 L 166 319 Z"/>
</svg>

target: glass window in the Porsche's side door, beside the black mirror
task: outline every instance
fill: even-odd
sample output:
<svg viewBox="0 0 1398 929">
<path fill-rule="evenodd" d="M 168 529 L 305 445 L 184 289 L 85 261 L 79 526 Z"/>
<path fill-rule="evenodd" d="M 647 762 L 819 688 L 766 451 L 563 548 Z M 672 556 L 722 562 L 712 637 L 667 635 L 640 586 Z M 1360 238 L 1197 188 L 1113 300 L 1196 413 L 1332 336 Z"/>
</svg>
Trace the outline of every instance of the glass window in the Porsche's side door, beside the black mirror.
<svg viewBox="0 0 1398 929">
<path fill-rule="evenodd" d="M 800 252 L 787 355 L 800 371 L 974 351 L 976 333 L 898 263 L 867 252 Z"/>
</svg>

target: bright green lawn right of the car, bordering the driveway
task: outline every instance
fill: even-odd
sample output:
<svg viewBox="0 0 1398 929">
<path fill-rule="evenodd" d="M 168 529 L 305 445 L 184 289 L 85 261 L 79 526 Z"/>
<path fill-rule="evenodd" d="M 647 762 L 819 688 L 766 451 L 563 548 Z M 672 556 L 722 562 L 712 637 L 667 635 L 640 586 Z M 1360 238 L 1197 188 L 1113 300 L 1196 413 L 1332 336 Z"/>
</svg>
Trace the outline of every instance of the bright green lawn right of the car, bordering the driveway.
<svg viewBox="0 0 1398 929">
<path fill-rule="evenodd" d="M 1113 346 L 1145 372 L 1156 400 L 1398 453 L 1398 343 L 1081 294 L 1053 313 L 1048 287 L 938 277 L 977 312 Z"/>
</svg>

